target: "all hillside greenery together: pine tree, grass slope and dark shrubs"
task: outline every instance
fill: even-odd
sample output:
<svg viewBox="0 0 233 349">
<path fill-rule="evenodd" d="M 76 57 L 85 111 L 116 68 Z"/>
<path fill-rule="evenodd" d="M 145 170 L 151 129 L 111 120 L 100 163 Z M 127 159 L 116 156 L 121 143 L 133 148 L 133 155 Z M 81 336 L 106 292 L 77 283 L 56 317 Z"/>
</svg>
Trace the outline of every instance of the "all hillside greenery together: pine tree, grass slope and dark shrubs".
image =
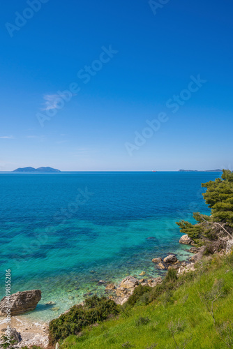
<svg viewBox="0 0 233 349">
<path fill-rule="evenodd" d="M 202 184 L 211 216 L 177 223 L 206 255 L 195 271 L 168 269 L 162 283 L 139 285 L 123 306 L 105 297 L 86 299 L 50 322 L 50 342 L 61 349 L 233 348 L 233 251 L 224 255 L 233 233 L 233 174 L 223 170 Z"/>
</svg>

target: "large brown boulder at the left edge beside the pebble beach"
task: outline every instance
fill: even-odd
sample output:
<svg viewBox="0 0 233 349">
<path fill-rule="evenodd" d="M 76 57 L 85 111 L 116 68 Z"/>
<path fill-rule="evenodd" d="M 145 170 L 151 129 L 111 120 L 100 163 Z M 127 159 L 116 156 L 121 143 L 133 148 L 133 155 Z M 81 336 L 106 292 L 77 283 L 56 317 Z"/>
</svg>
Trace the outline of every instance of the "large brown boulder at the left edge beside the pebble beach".
<svg viewBox="0 0 233 349">
<path fill-rule="evenodd" d="M 7 303 L 6 297 L 0 302 L 0 316 L 6 315 L 6 310 L 10 308 L 10 315 L 20 315 L 33 311 L 41 299 L 40 290 L 30 290 L 13 293 L 10 296 L 10 304 Z"/>
</svg>

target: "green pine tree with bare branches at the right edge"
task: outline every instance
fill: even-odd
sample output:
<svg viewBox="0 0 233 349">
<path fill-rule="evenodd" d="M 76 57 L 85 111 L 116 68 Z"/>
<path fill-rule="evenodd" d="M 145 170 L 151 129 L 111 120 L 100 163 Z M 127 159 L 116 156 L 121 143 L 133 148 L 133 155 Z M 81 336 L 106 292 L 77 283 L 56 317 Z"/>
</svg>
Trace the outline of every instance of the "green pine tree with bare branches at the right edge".
<svg viewBox="0 0 233 349">
<path fill-rule="evenodd" d="M 196 224 L 187 221 L 176 224 L 183 234 L 188 234 L 197 244 L 205 244 L 209 252 L 214 253 L 224 248 L 233 234 L 233 173 L 223 170 L 222 178 L 204 183 L 202 187 L 207 189 L 202 195 L 211 208 L 211 216 L 195 212 Z"/>
</svg>

